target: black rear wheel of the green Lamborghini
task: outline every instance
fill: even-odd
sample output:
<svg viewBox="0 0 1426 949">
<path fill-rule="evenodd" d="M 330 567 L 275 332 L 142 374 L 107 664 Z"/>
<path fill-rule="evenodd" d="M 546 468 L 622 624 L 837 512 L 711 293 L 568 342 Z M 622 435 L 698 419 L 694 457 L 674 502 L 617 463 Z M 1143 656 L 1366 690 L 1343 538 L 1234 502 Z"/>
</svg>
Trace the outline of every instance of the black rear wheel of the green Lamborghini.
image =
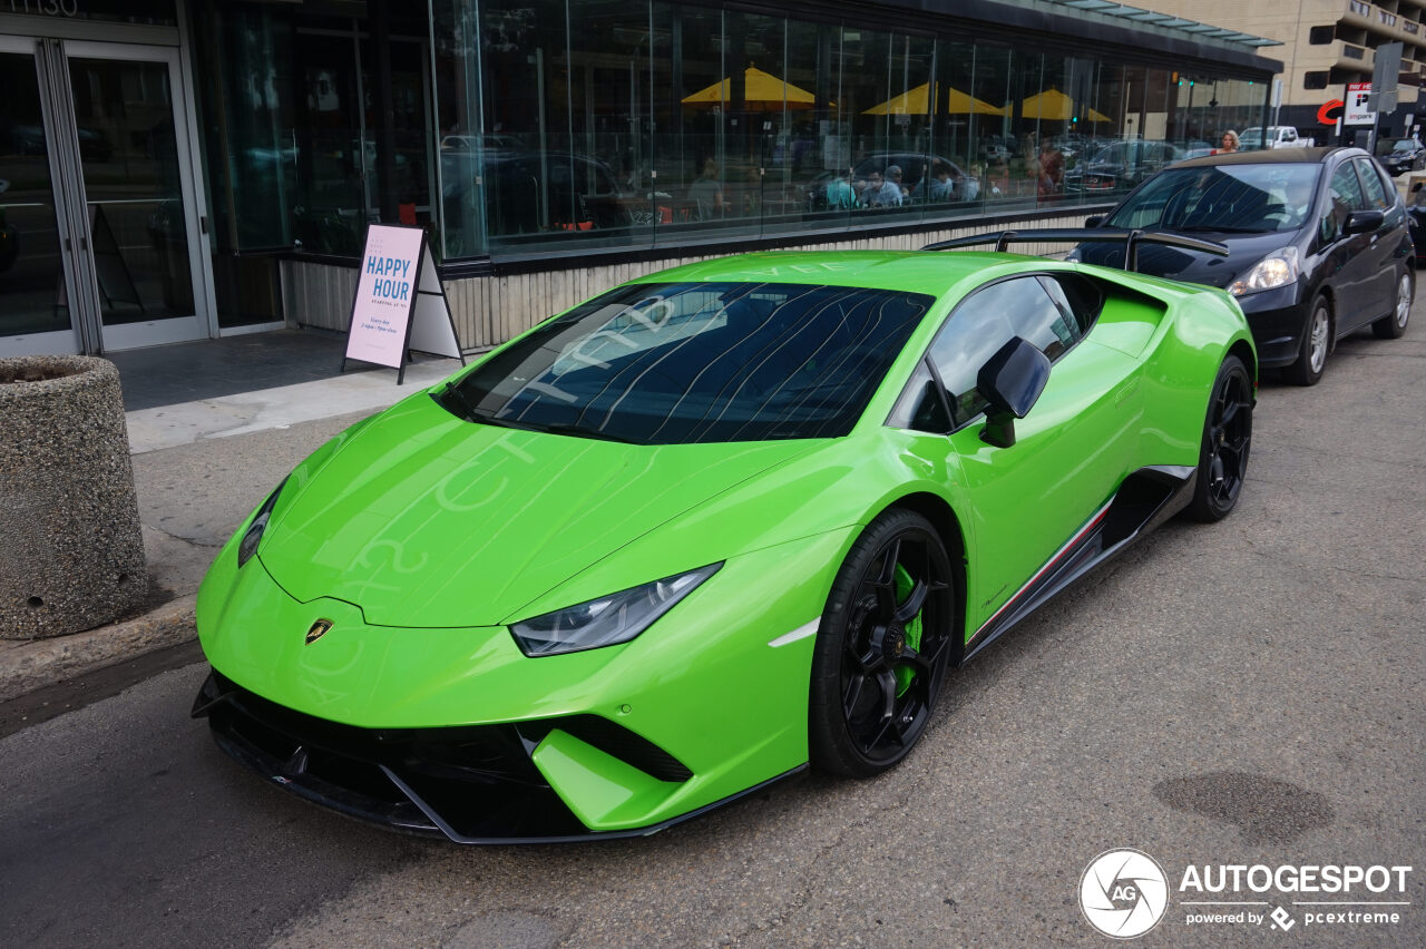
<svg viewBox="0 0 1426 949">
<path fill-rule="evenodd" d="M 1252 379 L 1238 356 L 1228 356 L 1214 380 L 1214 395 L 1204 420 L 1204 446 L 1198 460 L 1198 484 L 1189 513 L 1195 520 L 1222 520 L 1238 504 L 1248 476 L 1252 447 Z"/>
</svg>

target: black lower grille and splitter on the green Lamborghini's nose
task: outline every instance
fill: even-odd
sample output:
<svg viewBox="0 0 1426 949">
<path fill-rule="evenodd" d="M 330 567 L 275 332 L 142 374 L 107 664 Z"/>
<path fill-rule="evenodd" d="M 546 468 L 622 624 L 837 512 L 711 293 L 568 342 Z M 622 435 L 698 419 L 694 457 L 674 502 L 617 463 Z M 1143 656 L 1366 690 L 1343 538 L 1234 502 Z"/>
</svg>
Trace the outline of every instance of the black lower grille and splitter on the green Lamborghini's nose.
<svg viewBox="0 0 1426 949">
<path fill-rule="evenodd" d="M 193 715 L 240 764 L 301 798 L 396 831 L 456 844 L 535 844 L 646 836 L 803 771 L 657 824 L 590 831 L 555 792 L 542 757 L 603 757 L 633 782 L 679 785 L 673 755 L 596 715 L 458 728 L 355 728 L 270 702 L 214 670 Z"/>
</svg>

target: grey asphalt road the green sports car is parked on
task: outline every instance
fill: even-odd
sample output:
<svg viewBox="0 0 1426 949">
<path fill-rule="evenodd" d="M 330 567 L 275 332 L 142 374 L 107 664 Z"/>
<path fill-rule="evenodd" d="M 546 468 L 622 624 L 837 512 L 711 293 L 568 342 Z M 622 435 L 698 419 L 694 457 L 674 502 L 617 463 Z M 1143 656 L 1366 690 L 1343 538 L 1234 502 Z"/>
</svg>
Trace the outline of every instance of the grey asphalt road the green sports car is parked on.
<svg viewBox="0 0 1426 949">
<path fill-rule="evenodd" d="M 1189 925 L 1172 892 L 1142 945 L 1426 945 L 1423 323 L 1345 341 L 1316 388 L 1266 382 L 1232 517 L 1168 524 L 955 673 L 880 779 L 463 849 L 231 764 L 187 718 L 194 665 L 0 741 L 0 943 L 1109 945 L 1079 878 L 1132 846 L 1171 891 L 1189 865 L 1415 868 L 1399 895 L 1296 895 L 1410 903 L 1396 923 L 1272 892 L 1238 899 L 1286 932 Z"/>
</svg>

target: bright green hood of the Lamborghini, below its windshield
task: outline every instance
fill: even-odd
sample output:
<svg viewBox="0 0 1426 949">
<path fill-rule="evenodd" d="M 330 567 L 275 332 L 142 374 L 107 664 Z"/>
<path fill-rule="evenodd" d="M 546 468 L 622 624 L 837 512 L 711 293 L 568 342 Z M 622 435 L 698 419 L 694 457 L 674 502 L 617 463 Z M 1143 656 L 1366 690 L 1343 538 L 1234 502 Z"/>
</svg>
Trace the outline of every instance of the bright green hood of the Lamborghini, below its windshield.
<svg viewBox="0 0 1426 949">
<path fill-rule="evenodd" d="M 816 445 L 597 442 L 462 422 L 421 396 L 372 419 L 317 473 L 299 467 L 258 557 L 292 597 L 344 600 L 374 626 L 496 626 Z"/>
</svg>

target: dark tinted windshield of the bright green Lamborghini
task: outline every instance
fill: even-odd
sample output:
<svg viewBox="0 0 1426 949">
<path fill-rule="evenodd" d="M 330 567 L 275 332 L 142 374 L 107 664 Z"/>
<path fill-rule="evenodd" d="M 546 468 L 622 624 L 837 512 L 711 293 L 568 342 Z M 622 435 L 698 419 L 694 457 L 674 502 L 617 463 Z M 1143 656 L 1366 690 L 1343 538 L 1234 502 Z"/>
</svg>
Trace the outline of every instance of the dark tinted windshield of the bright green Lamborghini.
<svg viewBox="0 0 1426 949">
<path fill-rule="evenodd" d="M 640 445 L 834 437 L 934 298 L 639 284 L 546 321 L 438 400 L 486 425 Z"/>
</svg>

